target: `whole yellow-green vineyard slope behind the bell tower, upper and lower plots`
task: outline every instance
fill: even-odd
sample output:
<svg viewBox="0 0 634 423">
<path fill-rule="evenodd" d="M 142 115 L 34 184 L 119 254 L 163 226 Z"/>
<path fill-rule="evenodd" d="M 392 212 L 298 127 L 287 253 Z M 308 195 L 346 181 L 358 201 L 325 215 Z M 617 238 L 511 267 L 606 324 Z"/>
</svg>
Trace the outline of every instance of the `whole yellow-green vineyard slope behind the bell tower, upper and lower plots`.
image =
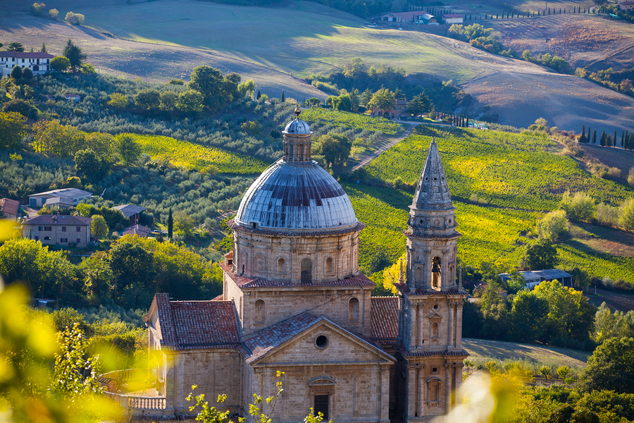
<svg viewBox="0 0 634 423">
<path fill-rule="evenodd" d="M 466 265 L 483 262 L 509 270 L 518 265 L 524 247 L 532 242 L 535 222 L 542 212 L 557 208 L 566 186 L 586 190 L 597 201 L 619 204 L 631 196 L 630 188 L 590 176 L 554 149 L 546 138 L 495 131 L 455 130 L 436 133 L 456 207 L 458 255 Z M 366 168 L 373 176 L 396 176 L 416 183 L 423 168 L 431 137 L 411 135 L 388 149 Z M 397 262 L 405 250 L 406 220 L 412 193 L 392 188 L 344 185 L 357 219 L 366 224 L 361 232 L 359 264 L 377 271 Z M 456 194 L 457 192 L 457 194 Z M 466 201 L 471 192 L 490 204 Z M 634 282 L 634 259 L 557 245 L 560 266 L 578 266 L 592 276 L 609 276 Z M 387 263 L 387 264 L 386 264 Z"/>
</svg>

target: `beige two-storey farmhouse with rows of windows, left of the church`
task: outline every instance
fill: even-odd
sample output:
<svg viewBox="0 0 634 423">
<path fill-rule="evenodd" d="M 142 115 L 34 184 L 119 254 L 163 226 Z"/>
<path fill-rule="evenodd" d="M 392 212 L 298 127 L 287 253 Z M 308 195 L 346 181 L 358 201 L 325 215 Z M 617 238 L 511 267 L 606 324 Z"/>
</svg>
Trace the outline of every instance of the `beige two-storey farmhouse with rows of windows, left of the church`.
<svg viewBox="0 0 634 423">
<path fill-rule="evenodd" d="M 67 245 L 84 248 L 90 241 L 92 219 L 82 216 L 42 214 L 22 223 L 22 236 L 44 245 Z"/>
</svg>

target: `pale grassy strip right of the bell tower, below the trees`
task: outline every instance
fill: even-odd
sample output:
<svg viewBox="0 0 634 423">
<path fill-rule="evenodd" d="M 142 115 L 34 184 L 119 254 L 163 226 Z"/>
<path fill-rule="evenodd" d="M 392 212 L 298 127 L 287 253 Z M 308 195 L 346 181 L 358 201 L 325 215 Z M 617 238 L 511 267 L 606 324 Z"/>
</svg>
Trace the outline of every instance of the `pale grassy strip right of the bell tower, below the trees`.
<svg viewBox="0 0 634 423">
<path fill-rule="evenodd" d="M 582 369 L 585 367 L 589 355 L 583 351 L 569 350 L 568 348 L 540 347 L 538 345 L 481 339 L 464 339 L 462 343 L 470 355 L 469 360 L 473 362 L 508 360 Z"/>
</svg>

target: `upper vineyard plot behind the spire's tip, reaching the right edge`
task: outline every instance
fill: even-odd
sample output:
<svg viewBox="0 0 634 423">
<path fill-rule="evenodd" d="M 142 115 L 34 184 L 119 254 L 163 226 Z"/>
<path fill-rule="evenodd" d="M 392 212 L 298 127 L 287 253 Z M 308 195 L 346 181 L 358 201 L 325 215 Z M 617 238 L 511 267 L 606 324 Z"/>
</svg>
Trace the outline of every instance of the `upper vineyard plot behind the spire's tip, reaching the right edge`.
<svg viewBox="0 0 634 423">
<path fill-rule="evenodd" d="M 421 128 L 421 127 L 419 127 Z M 421 128 L 373 160 L 372 176 L 416 183 L 432 140 Z M 452 128 L 435 136 L 454 198 L 475 194 L 488 204 L 547 211 L 557 208 L 566 190 L 584 191 L 597 202 L 618 205 L 633 194 L 630 188 L 583 171 L 570 157 L 552 154 L 546 137 Z"/>
</svg>

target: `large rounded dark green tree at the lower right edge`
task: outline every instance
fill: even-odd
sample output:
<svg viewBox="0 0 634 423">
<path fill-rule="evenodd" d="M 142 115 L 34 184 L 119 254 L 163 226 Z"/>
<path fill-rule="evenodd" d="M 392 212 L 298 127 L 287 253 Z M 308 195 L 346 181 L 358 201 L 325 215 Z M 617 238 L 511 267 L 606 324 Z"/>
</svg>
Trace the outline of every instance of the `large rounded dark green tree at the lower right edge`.
<svg viewBox="0 0 634 423">
<path fill-rule="evenodd" d="M 633 380 L 634 339 L 611 338 L 592 353 L 577 386 L 582 392 L 631 393 Z"/>
</svg>

